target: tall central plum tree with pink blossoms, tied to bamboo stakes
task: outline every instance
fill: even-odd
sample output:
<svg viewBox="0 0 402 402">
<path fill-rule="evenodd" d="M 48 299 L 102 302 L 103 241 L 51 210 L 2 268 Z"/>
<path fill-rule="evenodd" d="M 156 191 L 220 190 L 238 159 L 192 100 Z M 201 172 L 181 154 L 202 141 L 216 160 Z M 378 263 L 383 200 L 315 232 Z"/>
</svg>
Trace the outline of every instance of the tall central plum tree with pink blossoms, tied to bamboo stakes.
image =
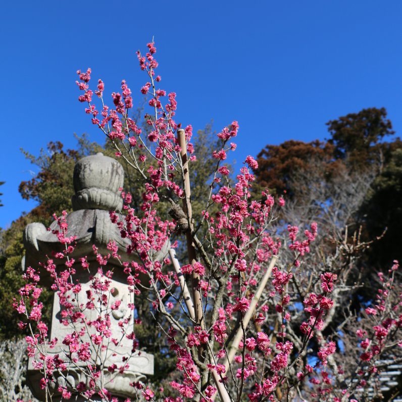
<svg viewBox="0 0 402 402">
<path fill-rule="evenodd" d="M 257 161 L 251 156 L 246 158 L 240 173 L 235 181 L 231 182 L 229 170 L 221 163 L 226 160 L 227 152 L 236 148 L 236 144 L 230 141 L 238 133 L 238 123 L 234 121 L 219 132 L 221 147 L 212 153 L 212 158 L 217 161 L 216 172 L 210 186 L 210 198 L 201 219 L 206 227 L 206 234 L 202 239 L 198 239 L 192 232 L 191 224 L 188 229 L 188 235 L 196 244 L 199 260 L 181 266 L 182 274 L 196 278 L 193 283 L 199 290 L 199 303 L 203 306 L 203 316 L 195 319 L 193 329 L 188 333 L 186 327 L 179 324 L 180 321 L 170 311 L 172 301 L 165 302 L 167 299 L 179 300 L 177 295 L 178 289 L 180 291 L 179 281 L 172 270 L 164 269 L 164 264 L 155 261 L 154 255 L 174 236 L 175 223 L 178 223 L 163 222 L 158 216 L 157 204 L 163 199 L 171 199 L 174 203 L 186 200 L 188 188 L 186 189 L 184 185 L 186 166 L 182 155 L 183 152 L 189 153 L 191 155 L 189 162 L 195 157 L 192 155 L 193 146 L 189 142 L 192 130 L 190 126 L 186 127 L 184 131 L 186 149 L 181 149 L 175 135 L 176 130 L 181 127 L 173 120 L 177 107 L 175 94 L 169 94 L 169 103 L 163 105 L 161 99 L 166 96 L 166 91 L 157 88 L 161 77 L 155 73 L 158 67 L 155 53 L 153 43 L 148 44 L 145 56 L 137 53 L 140 68 L 148 76 L 148 81 L 141 87 L 140 92 L 149 96 L 148 104 L 153 109 L 152 114 L 146 115 L 146 123 L 149 126 L 146 139 L 142 137 L 140 130 L 134 128 L 127 114 L 127 104 L 121 100 L 120 95 L 112 95 L 114 105 L 117 107 L 109 109 L 104 106 L 103 88 L 98 88 L 97 92 L 102 100 L 104 120 L 96 124 L 114 142 L 118 149 L 117 155 L 126 158 L 132 167 L 149 177 L 145 180 L 144 202 L 140 211 L 134 211 L 130 207 L 130 195 L 123 194 L 126 200 L 124 220 L 119 220 L 116 214 L 111 215 L 112 220 L 119 226 L 122 236 L 131 241 L 129 252 L 135 253 L 141 261 L 132 264 L 130 270 L 126 267 L 126 272 L 129 273 L 130 283 L 136 292 L 143 290 L 139 280 L 135 278 L 140 274 L 148 275 L 154 291 L 154 298 L 150 304 L 153 309 L 164 314 L 170 324 L 170 329 L 165 331 L 170 334 L 170 348 L 180 362 L 176 368 L 182 373 L 182 382 L 176 381 L 171 386 L 180 396 L 191 398 L 196 393 L 201 393 L 205 400 L 213 397 L 210 391 L 210 394 L 202 392 L 205 388 L 202 378 L 205 378 L 207 370 L 218 378 L 214 389 L 222 388 L 223 384 L 221 397 L 222 392 L 228 394 L 233 384 L 239 387 L 240 383 L 241 387 L 246 388 L 261 385 L 259 392 L 250 394 L 252 400 L 257 400 L 263 395 L 271 397 L 274 389 L 285 380 L 288 365 L 295 356 L 293 342 L 289 341 L 286 335 L 286 324 L 290 322 L 287 309 L 292 297 L 289 292 L 292 272 L 275 267 L 272 271 L 272 282 L 264 289 L 264 295 L 267 297 L 265 303 L 255 303 L 255 294 L 261 278 L 267 273 L 269 261 L 280 253 L 283 246 L 281 237 L 277 236 L 275 231 L 271 232 L 270 227 L 273 210 L 275 207 L 283 207 L 284 199 L 280 197 L 276 201 L 269 191 L 262 193 L 260 201 L 251 199 L 250 189 L 255 181 L 252 171 L 258 167 Z M 83 79 L 85 81 L 80 89 L 84 91 L 84 95 L 81 95 L 79 100 L 87 101 L 86 112 L 94 114 L 95 106 L 91 100 L 85 98 L 89 90 L 85 87 L 88 75 L 84 75 Z M 115 119 L 117 115 L 120 122 Z M 108 126 L 110 122 L 111 127 Z M 150 146 L 146 140 L 151 143 Z M 145 165 L 141 165 L 145 160 L 154 160 L 156 164 L 148 166 L 145 170 Z M 218 183 L 220 186 L 214 191 L 214 186 Z M 184 204 L 186 202 L 188 200 Z M 183 208 L 188 210 L 188 205 L 184 205 Z M 211 213 L 212 210 L 216 212 Z M 297 240 L 297 232 L 298 228 L 289 226 L 291 239 L 289 248 L 296 253 L 295 268 L 300 265 L 299 260 L 310 252 L 310 244 L 316 237 L 317 224 L 312 223 L 311 231 L 305 230 L 305 240 Z M 170 261 L 166 259 L 165 262 L 169 264 Z M 306 323 L 309 331 L 302 333 L 301 337 L 306 339 L 311 337 L 313 329 L 320 325 L 323 312 L 331 308 L 330 301 L 326 303 L 325 297 L 321 302 L 322 306 L 325 305 L 325 309 L 319 307 L 317 313 L 314 313 L 313 309 L 309 311 L 309 315 L 314 319 L 309 318 L 309 324 Z M 265 332 L 266 329 L 263 329 L 269 315 L 270 304 L 275 306 L 276 313 L 282 315 L 282 322 L 275 335 L 281 337 L 282 342 L 277 342 L 274 349 L 269 347 L 270 338 Z M 186 312 L 185 307 L 182 309 Z M 238 331 L 236 322 L 243 321 L 244 325 L 244 317 L 250 309 L 253 309 L 252 322 L 261 330 L 254 336 L 253 331 L 250 332 L 250 336 L 240 339 L 235 345 L 230 340 Z M 194 321 L 189 312 L 187 319 Z M 175 328 L 174 334 L 172 328 Z M 248 331 L 250 329 L 246 329 L 246 333 Z M 180 346 L 177 333 L 185 339 Z M 304 342 L 303 349 L 307 347 L 307 343 Z M 214 351 L 216 344 L 219 345 L 218 352 Z M 235 350 L 235 353 L 229 359 L 228 354 L 231 350 Z M 301 351 L 298 350 L 297 353 Z M 264 386 L 256 383 L 259 354 L 266 356 L 265 364 L 270 372 L 270 380 L 264 379 L 262 382 Z"/>
</svg>

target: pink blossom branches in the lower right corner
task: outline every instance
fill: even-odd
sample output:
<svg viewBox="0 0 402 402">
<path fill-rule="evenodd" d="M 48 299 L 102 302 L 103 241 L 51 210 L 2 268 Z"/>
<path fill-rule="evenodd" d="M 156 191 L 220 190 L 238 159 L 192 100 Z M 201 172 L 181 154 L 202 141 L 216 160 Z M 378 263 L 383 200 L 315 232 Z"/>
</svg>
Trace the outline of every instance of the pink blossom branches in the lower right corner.
<svg viewBox="0 0 402 402">
<path fill-rule="evenodd" d="M 389 364 L 401 361 L 402 289 L 395 281 L 398 268 L 398 262 L 394 261 L 387 273 L 378 273 L 380 287 L 375 300 L 370 307 L 361 308 L 350 320 L 353 323 L 345 325 L 346 331 L 354 331 L 350 344 L 342 346 L 345 350 L 337 350 L 335 341 L 323 343 L 317 356 L 317 365 L 322 366 L 322 370 L 314 373 L 311 368 L 309 372 L 298 373 L 300 378 L 309 378 L 313 384 L 313 398 L 334 402 L 371 399 L 381 373 L 388 370 Z M 332 275 L 323 275 L 321 287 L 325 293 L 332 290 L 332 279 Z M 339 358 L 336 363 L 332 359 L 334 354 Z M 384 365 L 384 361 L 388 363 Z"/>
</svg>

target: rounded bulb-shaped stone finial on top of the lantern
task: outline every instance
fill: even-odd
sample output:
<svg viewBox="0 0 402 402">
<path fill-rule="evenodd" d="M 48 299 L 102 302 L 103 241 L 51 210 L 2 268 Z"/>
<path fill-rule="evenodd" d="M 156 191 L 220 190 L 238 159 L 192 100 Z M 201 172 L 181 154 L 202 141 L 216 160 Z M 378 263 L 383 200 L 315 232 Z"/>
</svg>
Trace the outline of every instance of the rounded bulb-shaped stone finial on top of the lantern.
<svg viewBox="0 0 402 402">
<path fill-rule="evenodd" d="M 120 210 L 124 171 L 119 162 L 102 152 L 82 158 L 74 168 L 73 210 Z"/>
</svg>

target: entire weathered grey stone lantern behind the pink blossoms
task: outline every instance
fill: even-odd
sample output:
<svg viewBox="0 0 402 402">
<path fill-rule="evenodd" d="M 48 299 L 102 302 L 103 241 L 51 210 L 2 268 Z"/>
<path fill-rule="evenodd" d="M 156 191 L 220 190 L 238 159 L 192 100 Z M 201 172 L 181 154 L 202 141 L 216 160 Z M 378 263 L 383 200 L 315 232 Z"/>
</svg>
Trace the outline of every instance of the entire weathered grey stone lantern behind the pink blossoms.
<svg viewBox="0 0 402 402">
<path fill-rule="evenodd" d="M 98 264 L 92 250 L 94 244 L 98 247 L 98 253 L 106 255 L 109 252 L 107 244 L 110 241 L 115 241 L 119 247 L 119 255 L 123 261 L 130 261 L 133 255 L 127 255 L 126 246 L 127 239 L 120 236 L 120 232 L 115 224 L 111 222 L 109 211 L 121 210 L 123 202 L 119 188 L 123 186 L 124 172 L 119 162 L 98 153 L 94 156 L 88 156 L 77 162 L 74 168 L 74 190 L 75 195 L 72 197 L 73 212 L 67 215 L 68 236 L 76 236 L 76 247 L 71 255 L 75 259 L 77 279 L 81 283 L 81 293 L 85 297 L 85 291 L 89 289 L 89 276 L 96 274 Z M 58 229 L 57 222 L 54 222 L 51 229 Z M 51 231 L 47 231 L 41 223 L 31 223 L 25 228 L 24 244 L 26 255 L 24 265 L 25 268 L 32 266 L 36 267 L 38 262 L 46 261 L 46 256 L 52 256 L 52 252 L 62 250 L 62 245 L 59 243 L 57 236 Z M 80 266 L 79 258 L 87 257 L 89 263 L 89 271 L 83 270 Z M 58 260 L 55 259 L 55 264 Z M 57 270 L 64 270 L 64 260 L 59 260 Z M 92 271 L 91 271 L 92 267 Z M 130 317 L 128 309 L 128 300 L 130 297 L 128 284 L 126 283 L 126 274 L 124 274 L 119 261 L 111 258 L 108 262 L 108 269 L 113 269 L 114 275 L 112 279 L 113 291 L 110 293 L 111 302 L 120 300 L 118 310 L 111 314 L 111 330 L 112 334 L 121 337 L 121 329 L 119 321 Z M 41 284 L 49 286 L 50 278 L 46 272 L 41 272 Z M 80 293 L 80 294 L 81 294 Z M 77 301 L 79 303 L 80 300 Z M 50 327 L 51 338 L 57 337 L 58 343 L 51 349 L 52 354 L 62 356 L 66 346 L 62 344 L 62 340 L 68 333 L 71 333 L 71 328 L 64 326 L 59 318 L 62 307 L 60 300 L 55 293 L 53 301 L 52 323 Z M 91 312 L 88 318 L 91 319 Z M 131 314 L 130 326 L 133 326 L 133 317 Z M 89 335 L 86 335 L 89 336 Z M 113 336 L 113 335 L 112 335 Z M 111 343 L 112 346 L 113 343 Z M 107 355 L 102 358 L 106 362 L 103 376 L 105 378 L 105 388 L 119 399 L 134 397 L 136 390 L 130 385 L 130 382 L 137 382 L 145 379 L 147 375 L 154 374 L 154 357 L 144 351 L 136 351 L 128 360 L 128 368 L 122 373 L 114 374 L 113 380 L 111 373 L 107 370 L 108 366 L 116 364 L 118 367 L 122 365 L 122 356 L 130 356 L 132 349 L 132 340 L 123 338 L 121 344 L 115 349 L 109 349 Z M 88 384 L 89 378 L 84 374 L 84 370 L 80 366 L 84 366 L 85 362 L 77 362 L 76 366 L 69 368 L 68 372 L 58 375 L 55 374 L 56 385 L 53 385 L 54 395 L 60 396 L 58 385 L 71 387 L 79 382 Z M 45 394 L 39 386 L 41 374 L 34 369 L 33 360 L 28 363 L 27 380 L 35 397 L 44 400 Z M 53 383 L 52 383 L 53 384 Z M 94 395 L 95 397 L 95 395 Z M 74 400 L 81 400 L 76 396 Z M 82 399 L 87 400 L 87 399 Z"/>
</svg>

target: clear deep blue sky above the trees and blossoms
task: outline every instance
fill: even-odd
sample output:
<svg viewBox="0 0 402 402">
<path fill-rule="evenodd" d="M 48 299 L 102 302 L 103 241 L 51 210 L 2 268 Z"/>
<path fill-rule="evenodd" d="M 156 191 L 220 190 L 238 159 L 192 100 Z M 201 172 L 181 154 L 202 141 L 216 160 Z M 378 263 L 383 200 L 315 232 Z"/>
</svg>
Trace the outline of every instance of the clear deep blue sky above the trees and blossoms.
<svg viewBox="0 0 402 402">
<path fill-rule="evenodd" d="M 77 101 L 77 69 L 91 67 L 105 93 L 126 79 L 135 104 L 146 81 L 135 51 L 154 35 L 176 121 L 219 130 L 238 120 L 241 162 L 268 143 L 324 139 L 325 122 L 368 107 L 385 107 L 400 134 L 401 16 L 398 0 L 3 4 L 0 227 L 33 207 L 18 185 L 37 170 L 20 147 L 74 147 L 83 132 L 103 141 Z"/>
</svg>

